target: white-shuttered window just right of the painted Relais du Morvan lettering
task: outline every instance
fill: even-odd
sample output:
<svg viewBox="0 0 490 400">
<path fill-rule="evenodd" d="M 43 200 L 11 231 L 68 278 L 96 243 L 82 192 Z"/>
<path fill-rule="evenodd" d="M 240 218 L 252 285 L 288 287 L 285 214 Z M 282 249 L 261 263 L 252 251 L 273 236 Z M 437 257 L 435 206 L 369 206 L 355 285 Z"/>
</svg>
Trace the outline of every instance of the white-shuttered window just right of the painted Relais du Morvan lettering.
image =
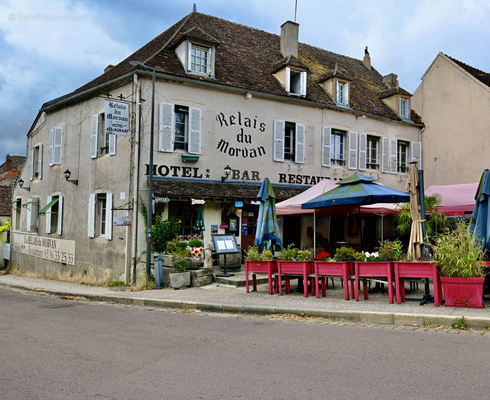
<svg viewBox="0 0 490 400">
<path fill-rule="evenodd" d="M 274 160 L 305 162 L 305 124 L 274 120 Z"/>
</svg>

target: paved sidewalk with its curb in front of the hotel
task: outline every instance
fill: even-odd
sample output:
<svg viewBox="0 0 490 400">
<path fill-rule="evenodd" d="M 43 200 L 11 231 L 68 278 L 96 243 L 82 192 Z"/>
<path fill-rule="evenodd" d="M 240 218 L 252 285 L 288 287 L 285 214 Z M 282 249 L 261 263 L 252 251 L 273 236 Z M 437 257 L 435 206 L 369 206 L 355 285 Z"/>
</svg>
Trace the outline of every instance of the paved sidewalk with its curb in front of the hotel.
<svg viewBox="0 0 490 400">
<path fill-rule="evenodd" d="M 423 306 L 418 301 L 389 304 L 388 294 L 372 293 L 369 300 L 344 299 L 344 289 L 340 279 L 331 281 L 327 296 L 303 297 L 302 293 L 291 292 L 280 296 L 270 295 L 268 285 L 259 284 L 256 292 L 247 293 L 244 287 L 216 286 L 190 287 L 181 290 L 171 288 L 129 291 L 105 286 L 90 286 L 71 282 L 61 282 L 43 278 L 28 278 L 16 275 L 0 275 L 0 286 L 10 286 L 26 290 L 47 291 L 58 295 L 85 296 L 96 301 L 110 301 L 124 304 L 148 305 L 164 308 L 197 308 L 217 312 L 232 313 L 294 313 L 321 316 L 332 320 L 372 322 L 400 325 L 451 326 L 456 318 L 464 316 L 469 328 L 484 329 L 490 325 L 490 300 L 485 300 L 485 308 L 435 307 L 434 303 Z M 423 285 L 421 285 L 423 288 Z M 292 285 L 292 288 L 294 286 Z M 408 297 L 422 297 L 422 291 Z"/>
</svg>

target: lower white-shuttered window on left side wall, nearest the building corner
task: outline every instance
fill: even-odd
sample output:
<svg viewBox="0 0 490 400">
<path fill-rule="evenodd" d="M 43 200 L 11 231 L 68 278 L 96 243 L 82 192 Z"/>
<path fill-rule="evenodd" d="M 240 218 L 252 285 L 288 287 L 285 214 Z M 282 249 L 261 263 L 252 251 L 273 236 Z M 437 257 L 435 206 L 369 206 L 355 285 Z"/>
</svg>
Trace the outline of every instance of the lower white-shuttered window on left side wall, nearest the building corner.
<svg viewBox="0 0 490 400">
<path fill-rule="evenodd" d="M 88 236 L 112 239 L 112 193 L 89 195 Z"/>
</svg>

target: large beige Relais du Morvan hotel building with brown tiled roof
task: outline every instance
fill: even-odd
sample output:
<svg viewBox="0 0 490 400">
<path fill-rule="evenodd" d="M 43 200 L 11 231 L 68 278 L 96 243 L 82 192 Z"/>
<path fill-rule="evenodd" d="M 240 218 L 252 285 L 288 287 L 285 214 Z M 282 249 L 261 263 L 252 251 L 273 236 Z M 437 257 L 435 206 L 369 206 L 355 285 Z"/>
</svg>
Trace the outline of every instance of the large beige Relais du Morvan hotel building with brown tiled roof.
<svg viewBox="0 0 490 400">
<path fill-rule="evenodd" d="M 43 104 L 22 170 L 30 191 L 14 192 L 22 206 L 14 215 L 13 263 L 47 274 L 127 278 L 146 250 L 139 209 L 149 173 L 154 195 L 170 199 L 164 217 L 180 218 L 182 234 L 191 233 L 197 207 L 191 199 L 204 199 L 204 240 L 211 240 L 211 225 L 219 233 L 235 228 L 242 248 L 254 240 L 265 177 L 277 201 L 322 177 L 355 171 L 403 189 L 408 162 L 421 154 L 423 125 L 410 93 L 395 74 L 376 71 L 369 54 L 358 60 L 299 43 L 298 30 L 287 21 L 277 35 L 191 12 L 99 77 Z M 129 136 L 105 133 L 107 94 L 112 105 L 129 106 Z M 231 173 L 221 182 L 226 165 Z M 66 169 L 77 185 L 66 181 Z M 130 216 L 131 225 L 113 226 L 113 216 Z M 313 218 L 281 222 L 286 243 L 312 244 Z M 345 226 L 348 236 L 347 221 L 341 224 L 337 234 Z M 317 228 L 328 235 L 330 219 Z M 376 237 L 379 227 L 369 229 Z"/>
</svg>

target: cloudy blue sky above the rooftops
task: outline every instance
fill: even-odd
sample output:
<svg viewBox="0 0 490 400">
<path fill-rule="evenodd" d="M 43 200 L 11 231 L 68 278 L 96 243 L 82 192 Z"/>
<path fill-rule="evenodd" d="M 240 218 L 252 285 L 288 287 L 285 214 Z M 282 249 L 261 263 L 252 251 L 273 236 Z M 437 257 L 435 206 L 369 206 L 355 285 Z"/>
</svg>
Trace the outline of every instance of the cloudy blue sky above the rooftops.
<svg viewBox="0 0 490 400">
<path fill-rule="evenodd" d="M 0 0 L 0 163 L 43 102 L 100 75 L 192 10 L 280 33 L 295 0 Z M 298 0 L 300 41 L 395 72 L 413 92 L 439 51 L 490 71 L 490 0 Z"/>
</svg>

